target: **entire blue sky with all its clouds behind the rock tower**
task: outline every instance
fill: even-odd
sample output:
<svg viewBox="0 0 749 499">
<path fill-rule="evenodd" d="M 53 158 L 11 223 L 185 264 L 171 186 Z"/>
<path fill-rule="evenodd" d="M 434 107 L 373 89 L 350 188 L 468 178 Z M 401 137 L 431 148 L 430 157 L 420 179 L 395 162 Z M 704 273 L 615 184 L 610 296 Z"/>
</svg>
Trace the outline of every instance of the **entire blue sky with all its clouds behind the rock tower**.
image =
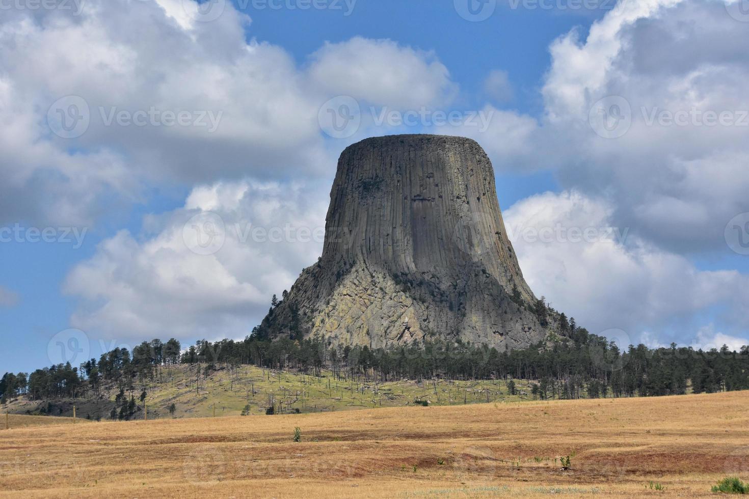
<svg viewBox="0 0 749 499">
<path fill-rule="evenodd" d="M 527 281 L 578 324 L 739 348 L 742 7 L 3 4 L 0 371 L 244 337 L 321 254 L 339 153 L 404 132 L 485 148 Z"/>
</svg>

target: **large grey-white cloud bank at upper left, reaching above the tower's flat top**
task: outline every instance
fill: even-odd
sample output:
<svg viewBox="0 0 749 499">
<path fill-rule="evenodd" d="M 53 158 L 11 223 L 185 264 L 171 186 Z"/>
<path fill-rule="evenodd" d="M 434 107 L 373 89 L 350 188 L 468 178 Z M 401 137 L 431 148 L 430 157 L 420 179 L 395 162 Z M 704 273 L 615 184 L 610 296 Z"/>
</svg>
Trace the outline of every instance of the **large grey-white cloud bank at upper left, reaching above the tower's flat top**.
<svg viewBox="0 0 749 499">
<path fill-rule="evenodd" d="M 321 133 L 324 102 L 434 104 L 455 88 L 431 52 L 356 37 L 297 65 L 280 46 L 248 42 L 251 19 L 231 2 L 213 22 L 191 7 L 4 11 L 1 219 L 91 224 L 104 204 L 128 206 L 154 185 L 332 177 L 340 145 Z"/>
</svg>

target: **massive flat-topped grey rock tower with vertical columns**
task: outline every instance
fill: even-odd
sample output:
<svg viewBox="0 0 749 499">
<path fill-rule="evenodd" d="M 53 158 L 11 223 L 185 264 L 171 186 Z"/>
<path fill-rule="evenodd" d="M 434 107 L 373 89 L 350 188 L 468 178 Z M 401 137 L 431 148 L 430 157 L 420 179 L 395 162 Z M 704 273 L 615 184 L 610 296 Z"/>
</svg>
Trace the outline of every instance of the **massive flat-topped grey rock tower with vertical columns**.
<svg viewBox="0 0 749 499">
<path fill-rule="evenodd" d="M 460 338 L 512 349 L 552 327 L 535 301 L 479 144 L 389 135 L 342 153 L 322 257 L 260 330 L 342 346 Z"/>
</svg>

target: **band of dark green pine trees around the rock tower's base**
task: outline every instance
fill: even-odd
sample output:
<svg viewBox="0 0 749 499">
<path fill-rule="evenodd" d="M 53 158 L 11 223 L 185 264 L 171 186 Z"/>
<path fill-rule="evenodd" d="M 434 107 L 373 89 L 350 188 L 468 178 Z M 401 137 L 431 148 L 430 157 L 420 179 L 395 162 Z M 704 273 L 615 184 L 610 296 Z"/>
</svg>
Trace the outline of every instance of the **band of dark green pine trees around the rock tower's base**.
<svg viewBox="0 0 749 499">
<path fill-rule="evenodd" d="M 539 307 L 540 309 L 540 307 Z M 257 334 L 244 340 L 198 340 L 184 352 L 178 340 L 143 342 L 132 352 L 119 348 L 72 367 L 70 363 L 25 373 L 5 373 L 0 380 L 0 400 L 25 394 L 31 399 L 79 397 L 100 393 L 103 382 L 116 382 L 122 397 L 138 381 L 154 380 L 175 364 L 198 364 L 196 373 L 208 376 L 217 366 L 254 365 L 275 370 L 295 370 L 319 376 L 331 369 L 335 376 L 380 382 L 396 379 L 512 379 L 533 380 L 531 393 L 521 396 L 550 398 L 649 397 L 749 389 L 749 346 L 732 352 L 721 349 L 677 347 L 649 349 L 629 346 L 619 351 L 615 343 L 589 334 L 565 320 L 564 337 L 549 337 L 527 349 L 498 351 L 470 343 L 425 341 L 389 349 L 368 346 L 333 346 L 311 338 L 270 341 Z M 200 369 L 200 365 L 204 367 Z M 118 417 L 128 419 L 135 400 L 123 398 Z"/>
</svg>

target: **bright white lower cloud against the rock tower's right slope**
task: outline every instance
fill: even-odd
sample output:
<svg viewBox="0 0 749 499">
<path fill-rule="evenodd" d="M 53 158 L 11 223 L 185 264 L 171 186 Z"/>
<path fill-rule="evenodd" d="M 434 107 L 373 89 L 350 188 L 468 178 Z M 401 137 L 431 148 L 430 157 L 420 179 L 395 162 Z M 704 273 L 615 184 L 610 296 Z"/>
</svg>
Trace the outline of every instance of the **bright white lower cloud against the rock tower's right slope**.
<svg viewBox="0 0 749 499">
<path fill-rule="evenodd" d="M 616 227 L 613 211 L 606 200 L 580 192 L 548 192 L 506 210 L 510 239 L 537 295 L 591 332 L 618 328 L 633 341 L 646 331 L 673 328 L 684 337 L 700 327 L 700 314 L 718 305 L 745 310 L 749 278 L 700 271 L 685 257 Z M 648 338 L 654 340 L 643 340 Z"/>
</svg>

